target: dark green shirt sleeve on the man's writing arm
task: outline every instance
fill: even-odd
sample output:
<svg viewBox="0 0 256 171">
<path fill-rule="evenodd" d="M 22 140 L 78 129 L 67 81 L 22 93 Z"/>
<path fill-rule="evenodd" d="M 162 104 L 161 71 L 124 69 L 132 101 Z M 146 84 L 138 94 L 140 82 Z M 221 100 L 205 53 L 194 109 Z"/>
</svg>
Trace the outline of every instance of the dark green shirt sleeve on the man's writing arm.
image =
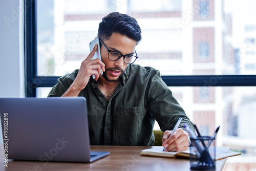
<svg viewBox="0 0 256 171">
<path fill-rule="evenodd" d="M 193 123 L 186 116 L 178 101 L 174 98 L 172 91 L 162 80 L 159 71 L 156 72 L 147 85 L 147 101 L 150 112 L 158 122 L 161 131 L 173 130 L 178 119 L 182 121 L 179 125 L 187 124 L 194 130 Z"/>
</svg>

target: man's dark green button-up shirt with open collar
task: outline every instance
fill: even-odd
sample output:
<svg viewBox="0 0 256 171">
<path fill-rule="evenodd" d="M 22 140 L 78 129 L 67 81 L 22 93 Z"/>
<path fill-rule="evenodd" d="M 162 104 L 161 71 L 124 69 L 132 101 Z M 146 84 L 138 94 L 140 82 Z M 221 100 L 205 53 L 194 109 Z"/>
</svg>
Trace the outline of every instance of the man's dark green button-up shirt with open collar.
<svg viewBox="0 0 256 171">
<path fill-rule="evenodd" d="M 78 70 L 58 79 L 49 96 L 63 95 Z M 193 127 L 158 70 L 131 64 L 108 101 L 92 77 L 79 96 L 86 97 L 91 145 L 153 145 L 155 120 L 160 129 L 173 130 L 179 117 Z"/>
</svg>

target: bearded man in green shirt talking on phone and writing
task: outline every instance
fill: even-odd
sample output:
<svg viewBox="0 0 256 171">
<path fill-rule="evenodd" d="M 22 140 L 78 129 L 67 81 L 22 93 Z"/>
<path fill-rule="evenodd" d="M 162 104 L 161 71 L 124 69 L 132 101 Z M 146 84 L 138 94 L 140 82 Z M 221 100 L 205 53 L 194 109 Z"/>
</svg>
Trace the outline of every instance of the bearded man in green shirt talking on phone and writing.
<svg viewBox="0 0 256 171">
<path fill-rule="evenodd" d="M 99 24 L 98 38 L 102 61 L 92 60 L 95 46 L 79 70 L 58 79 L 49 96 L 86 97 L 91 145 L 153 145 L 156 119 L 164 132 L 165 151 L 186 150 L 186 132 L 179 128 L 170 136 L 173 131 L 168 130 L 174 129 L 179 117 L 179 127 L 193 123 L 158 70 L 133 64 L 141 40 L 136 19 L 110 13 Z"/>
</svg>

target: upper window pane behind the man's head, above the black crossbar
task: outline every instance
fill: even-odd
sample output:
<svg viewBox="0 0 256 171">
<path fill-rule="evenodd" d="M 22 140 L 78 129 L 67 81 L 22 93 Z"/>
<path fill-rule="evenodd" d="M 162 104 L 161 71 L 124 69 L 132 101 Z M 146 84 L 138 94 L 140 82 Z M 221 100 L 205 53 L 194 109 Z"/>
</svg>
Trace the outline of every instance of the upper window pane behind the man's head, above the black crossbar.
<svg viewBox="0 0 256 171">
<path fill-rule="evenodd" d="M 39 0 L 38 75 L 79 68 L 101 18 L 112 11 L 138 20 L 136 63 L 162 75 L 256 74 L 256 2 L 245 1 Z"/>
</svg>

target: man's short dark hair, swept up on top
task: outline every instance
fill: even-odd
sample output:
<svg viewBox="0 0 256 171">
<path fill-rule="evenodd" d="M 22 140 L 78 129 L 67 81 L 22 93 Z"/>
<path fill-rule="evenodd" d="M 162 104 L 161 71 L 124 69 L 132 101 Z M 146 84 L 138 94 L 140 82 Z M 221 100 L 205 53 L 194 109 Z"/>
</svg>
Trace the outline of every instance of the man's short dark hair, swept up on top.
<svg viewBox="0 0 256 171">
<path fill-rule="evenodd" d="M 141 40 L 141 30 L 135 18 L 112 12 L 102 18 L 99 24 L 98 37 L 102 40 L 109 39 L 113 32 L 120 33 L 138 42 Z"/>
</svg>

